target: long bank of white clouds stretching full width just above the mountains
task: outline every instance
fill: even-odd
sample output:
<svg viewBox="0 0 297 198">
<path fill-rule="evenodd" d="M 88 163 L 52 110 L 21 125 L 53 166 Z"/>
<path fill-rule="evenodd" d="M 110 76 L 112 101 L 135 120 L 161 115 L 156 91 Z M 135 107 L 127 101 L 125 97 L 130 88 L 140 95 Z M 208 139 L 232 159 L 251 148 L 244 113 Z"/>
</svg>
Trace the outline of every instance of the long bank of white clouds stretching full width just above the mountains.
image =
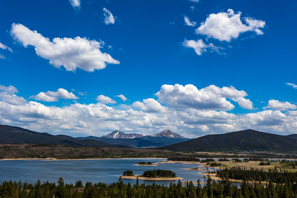
<svg viewBox="0 0 297 198">
<path fill-rule="evenodd" d="M 45 92 L 51 95 L 49 93 Z M 13 103 L 14 99 L 2 97 L 8 95 L 12 98 L 12 94 L 19 102 Z M 157 99 L 148 98 L 131 106 L 119 104 L 113 107 L 103 104 L 104 100 L 106 103 L 113 102 L 103 95 L 98 96 L 100 101 L 97 104 L 76 102 L 56 107 L 35 101 L 22 102 L 23 97 L 17 94 L 18 89 L 14 86 L 0 85 L 0 123 L 51 134 L 101 136 L 114 130 L 127 130 L 146 135 L 169 128 L 185 137 L 192 137 L 243 129 L 278 134 L 297 130 L 297 110 L 285 113 L 280 110 L 259 110 L 248 114 L 219 110 L 233 109 L 225 97 L 234 96 L 238 102 L 238 98 L 247 95 L 232 86 L 209 85 L 198 89 L 194 85 L 163 85 L 156 94 Z M 162 104 L 162 101 L 167 104 Z"/>
</svg>

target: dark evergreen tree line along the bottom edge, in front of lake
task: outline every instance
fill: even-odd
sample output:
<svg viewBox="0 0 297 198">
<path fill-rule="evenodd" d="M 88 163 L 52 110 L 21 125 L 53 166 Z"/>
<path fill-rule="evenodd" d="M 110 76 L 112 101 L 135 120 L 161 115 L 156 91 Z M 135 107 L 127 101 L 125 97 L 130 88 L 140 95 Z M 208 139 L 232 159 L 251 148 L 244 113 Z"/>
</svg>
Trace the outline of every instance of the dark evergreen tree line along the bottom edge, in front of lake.
<svg viewBox="0 0 297 198">
<path fill-rule="evenodd" d="M 54 183 L 37 183 L 28 184 L 25 186 L 19 182 L 3 182 L 0 185 L 0 197 L 13 197 L 13 198 L 48 198 L 55 195 L 56 198 L 89 198 L 89 197 L 102 197 L 102 198 L 186 198 L 186 197 L 234 197 L 234 198 L 247 198 L 247 197 L 297 197 L 296 184 L 276 184 L 274 185 L 270 180 L 267 187 L 261 185 L 260 182 L 249 183 L 244 180 L 240 187 L 233 185 L 228 179 L 228 175 L 223 175 L 220 180 L 215 181 L 208 175 L 204 178 L 204 184 L 200 184 L 200 180 L 195 186 L 192 181 L 187 181 L 185 184 L 179 180 L 177 183 L 167 184 L 140 184 L 136 180 L 133 186 L 128 183 L 124 184 L 122 178 L 118 182 L 112 184 L 105 183 L 91 183 L 87 182 L 83 189 L 74 188 L 72 184 L 64 184 L 63 178 L 59 178 L 58 185 Z M 76 182 L 79 183 L 79 182 Z M 81 185 L 80 185 L 81 187 Z"/>
</svg>

